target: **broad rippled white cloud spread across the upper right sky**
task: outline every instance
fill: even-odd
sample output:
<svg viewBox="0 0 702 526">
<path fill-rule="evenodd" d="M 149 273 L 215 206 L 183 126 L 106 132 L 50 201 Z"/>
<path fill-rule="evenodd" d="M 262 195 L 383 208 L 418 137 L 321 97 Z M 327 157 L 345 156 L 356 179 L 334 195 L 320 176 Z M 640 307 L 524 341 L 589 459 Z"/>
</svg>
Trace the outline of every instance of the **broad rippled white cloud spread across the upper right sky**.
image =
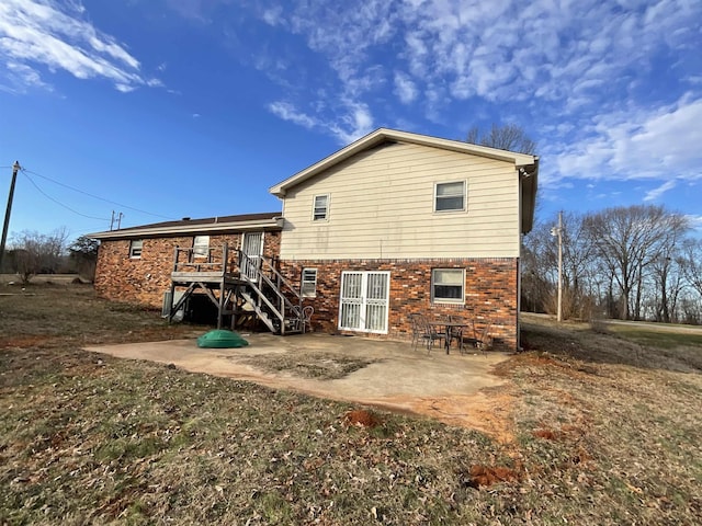
<svg viewBox="0 0 702 526">
<path fill-rule="evenodd" d="M 702 19 L 702 2 L 349 0 L 282 4 L 261 0 L 252 9 L 262 26 L 274 27 L 276 38 L 287 33 L 295 37 L 295 45 L 303 42 L 307 47 L 308 53 L 278 54 L 275 67 L 269 61 L 261 69 L 284 90 L 281 99 L 294 101 L 296 113 L 327 123 L 322 127 L 330 132 L 338 128 L 333 123 L 349 132 L 355 127 L 353 107 L 365 105 L 369 114 L 382 114 L 387 108 L 375 104 L 386 101 L 392 91 L 399 102 L 443 126 L 456 126 L 456 108 L 462 107 L 472 115 L 476 107 L 489 108 L 485 113 L 496 122 L 518 113 L 518 122 L 539 127 L 534 138 L 542 146 L 548 144 L 545 148 L 558 167 L 569 171 L 595 168 L 597 176 L 629 173 L 634 152 L 652 151 L 652 144 L 653 151 L 670 151 L 671 159 L 659 162 L 648 153 L 645 171 L 658 172 L 660 163 L 679 168 L 672 159 L 680 156 L 676 145 L 670 145 L 672 150 L 661 147 L 641 126 L 663 129 L 664 114 L 671 113 L 669 106 L 678 102 L 681 91 L 668 90 L 668 99 L 659 95 L 652 102 L 642 85 L 663 67 L 655 61 L 665 57 L 675 59 L 665 68 L 679 71 L 681 85 L 699 90 L 694 46 L 699 33 L 690 21 Z M 298 75 L 307 72 L 308 64 L 318 68 L 316 75 Z M 661 122 L 654 119 L 658 112 Z M 386 112 L 384 122 L 388 116 L 397 122 L 406 118 Z M 681 115 L 668 118 L 671 127 L 682 124 Z M 632 122 L 636 124 L 630 126 Z M 608 130 L 608 126 L 613 128 Z M 637 138 L 627 138 L 627 134 Z M 544 163 L 548 170 L 546 167 Z M 552 170 L 544 181 L 558 176 Z"/>
</svg>

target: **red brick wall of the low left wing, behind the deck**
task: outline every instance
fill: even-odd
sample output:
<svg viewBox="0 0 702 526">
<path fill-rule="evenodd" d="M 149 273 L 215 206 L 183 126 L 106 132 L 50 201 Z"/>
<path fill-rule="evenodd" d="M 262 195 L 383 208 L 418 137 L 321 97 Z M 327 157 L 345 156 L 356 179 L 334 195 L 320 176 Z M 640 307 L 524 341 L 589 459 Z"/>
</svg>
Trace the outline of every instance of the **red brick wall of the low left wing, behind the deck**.
<svg viewBox="0 0 702 526">
<path fill-rule="evenodd" d="M 210 248 L 229 247 L 229 259 L 236 258 L 241 233 L 211 235 Z M 280 253 L 281 232 L 263 235 L 263 255 Z M 129 258 L 129 240 L 104 240 L 98 253 L 95 290 L 99 296 L 115 300 L 138 302 L 160 308 L 163 293 L 170 289 L 176 247 L 191 248 L 193 236 L 173 238 L 145 238 L 141 258 Z"/>
</svg>

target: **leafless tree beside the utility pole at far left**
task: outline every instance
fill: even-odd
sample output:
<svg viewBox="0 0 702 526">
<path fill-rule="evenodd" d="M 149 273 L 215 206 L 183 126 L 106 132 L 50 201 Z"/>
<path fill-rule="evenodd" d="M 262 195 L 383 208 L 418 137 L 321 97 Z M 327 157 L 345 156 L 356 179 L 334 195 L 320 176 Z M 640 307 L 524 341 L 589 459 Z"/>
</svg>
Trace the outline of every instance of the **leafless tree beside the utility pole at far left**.
<svg viewBox="0 0 702 526">
<path fill-rule="evenodd" d="M 12 251 L 14 272 L 26 284 L 35 274 L 55 273 L 66 252 L 68 231 L 66 227 L 58 228 L 45 235 L 31 230 L 23 230 L 12 236 Z"/>
</svg>

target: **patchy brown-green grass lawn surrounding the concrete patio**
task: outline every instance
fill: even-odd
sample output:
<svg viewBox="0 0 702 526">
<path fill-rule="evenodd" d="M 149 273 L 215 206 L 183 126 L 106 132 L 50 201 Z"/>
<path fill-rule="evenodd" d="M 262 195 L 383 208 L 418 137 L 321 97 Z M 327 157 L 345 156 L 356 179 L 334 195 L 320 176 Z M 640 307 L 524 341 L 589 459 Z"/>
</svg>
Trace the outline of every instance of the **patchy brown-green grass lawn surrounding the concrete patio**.
<svg viewBox="0 0 702 526">
<path fill-rule="evenodd" d="M 530 318 L 486 392 L 511 400 L 498 442 L 84 352 L 193 328 L 86 286 L 0 293 L 0 524 L 701 522 L 699 336 Z"/>
</svg>

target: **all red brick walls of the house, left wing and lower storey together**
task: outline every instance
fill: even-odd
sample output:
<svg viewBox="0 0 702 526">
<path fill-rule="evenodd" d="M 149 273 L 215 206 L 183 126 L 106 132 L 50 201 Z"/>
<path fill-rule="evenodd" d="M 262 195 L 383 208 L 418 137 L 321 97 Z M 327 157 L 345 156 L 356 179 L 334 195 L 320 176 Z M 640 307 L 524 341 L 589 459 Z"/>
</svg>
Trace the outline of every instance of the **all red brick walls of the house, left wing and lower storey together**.
<svg viewBox="0 0 702 526">
<path fill-rule="evenodd" d="M 276 258 L 281 232 L 264 233 L 263 254 Z M 176 247 L 190 248 L 193 237 L 144 239 L 141 258 L 129 258 L 129 240 L 105 240 L 100 245 L 95 290 L 101 297 L 160 308 L 163 293 L 170 289 Z M 240 233 L 211 235 L 210 248 L 228 243 L 230 259 L 241 243 Z M 215 252 L 216 253 L 216 252 Z M 430 318 L 448 315 L 476 320 L 478 328 L 490 323 L 496 345 L 517 347 L 518 260 L 330 260 L 281 261 L 280 268 L 299 290 L 302 271 L 317 268 L 317 296 L 305 304 L 315 309 L 313 327 L 317 331 L 338 332 L 339 296 L 342 271 L 388 271 L 390 273 L 388 334 L 385 338 L 409 339 L 410 313 Z M 465 268 L 465 304 L 432 304 L 432 268 Z M 383 336 L 381 336 L 383 338 Z"/>
</svg>

